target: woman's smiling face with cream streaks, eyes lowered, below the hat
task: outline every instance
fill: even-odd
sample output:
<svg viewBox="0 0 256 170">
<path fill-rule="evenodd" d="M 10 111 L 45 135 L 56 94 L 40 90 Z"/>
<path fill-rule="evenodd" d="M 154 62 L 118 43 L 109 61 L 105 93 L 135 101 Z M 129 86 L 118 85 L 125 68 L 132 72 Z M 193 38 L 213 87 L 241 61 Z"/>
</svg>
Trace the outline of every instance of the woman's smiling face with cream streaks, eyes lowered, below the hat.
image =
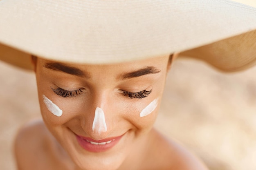
<svg viewBox="0 0 256 170">
<path fill-rule="evenodd" d="M 114 170 L 153 127 L 168 56 L 82 65 L 38 58 L 43 120 L 82 169 Z"/>
</svg>

